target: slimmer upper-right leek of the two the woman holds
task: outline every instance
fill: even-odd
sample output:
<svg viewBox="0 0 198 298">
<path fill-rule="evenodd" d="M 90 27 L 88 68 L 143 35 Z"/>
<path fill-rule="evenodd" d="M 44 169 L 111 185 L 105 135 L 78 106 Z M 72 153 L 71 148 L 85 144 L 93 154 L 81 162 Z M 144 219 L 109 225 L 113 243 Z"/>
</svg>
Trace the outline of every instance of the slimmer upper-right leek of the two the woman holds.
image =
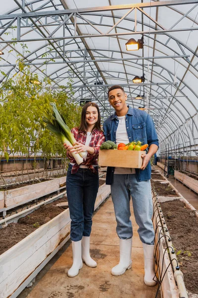
<svg viewBox="0 0 198 298">
<path fill-rule="evenodd" d="M 67 140 L 72 144 L 72 146 L 74 145 L 74 143 L 76 143 L 76 140 L 74 138 L 74 135 L 71 133 L 69 127 L 67 126 L 65 119 L 63 117 L 63 115 L 61 115 L 57 108 L 55 103 L 51 102 L 50 103 L 52 106 L 52 110 L 53 110 L 53 117 L 58 121 L 59 125 L 61 126 L 61 128 L 64 130 L 65 132 L 65 136 L 67 138 Z M 85 152 L 80 152 L 79 153 L 82 157 L 85 156 Z"/>
</svg>

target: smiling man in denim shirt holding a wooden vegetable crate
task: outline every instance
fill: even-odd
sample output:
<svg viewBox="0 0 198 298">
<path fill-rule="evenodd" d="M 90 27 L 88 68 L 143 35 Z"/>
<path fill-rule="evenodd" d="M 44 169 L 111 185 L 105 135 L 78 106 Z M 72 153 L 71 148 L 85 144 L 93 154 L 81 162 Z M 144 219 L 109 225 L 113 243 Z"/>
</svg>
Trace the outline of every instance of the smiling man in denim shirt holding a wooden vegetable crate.
<svg viewBox="0 0 198 298">
<path fill-rule="evenodd" d="M 120 238 L 120 262 L 112 268 L 111 274 L 118 276 L 132 266 L 131 250 L 133 229 L 130 221 L 130 197 L 132 196 L 134 215 L 139 225 L 138 233 L 143 242 L 145 257 L 145 277 L 147 286 L 154 286 L 153 252 L 154 230 L 151 221 L 152 197 L 150 187 L 150 157 L 158 149 L 158 139 L 151 117 L 142 110 L 128 107 L 127 95 L 119 85 L 108 89 L 108 100 L 115 113 L 108 117 L 103 130 L 105 141 L 117 145 L 134 140 L 148 144 L 148 153 L 142 154 L 143 165 L 140 169 L 108 167 L 106 184 L 111 185 L 111 196 L 117 222 L 116 231 Z"/>
</svg>

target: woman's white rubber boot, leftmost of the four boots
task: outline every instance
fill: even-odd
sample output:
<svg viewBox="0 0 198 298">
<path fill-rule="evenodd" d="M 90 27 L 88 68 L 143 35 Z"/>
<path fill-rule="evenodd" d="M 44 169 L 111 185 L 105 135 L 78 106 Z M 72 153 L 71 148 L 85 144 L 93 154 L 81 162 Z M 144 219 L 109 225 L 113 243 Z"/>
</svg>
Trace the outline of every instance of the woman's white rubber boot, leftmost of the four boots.
<svg viewBox="0 0 198 298">
<path fill-rule="evenodd" d="M 67 271 L 69 277 L 78 275 L 79 270 L 83 267 L 81 242 L 81 240 L 72 241 L 73 265 Z"/>
</svg>

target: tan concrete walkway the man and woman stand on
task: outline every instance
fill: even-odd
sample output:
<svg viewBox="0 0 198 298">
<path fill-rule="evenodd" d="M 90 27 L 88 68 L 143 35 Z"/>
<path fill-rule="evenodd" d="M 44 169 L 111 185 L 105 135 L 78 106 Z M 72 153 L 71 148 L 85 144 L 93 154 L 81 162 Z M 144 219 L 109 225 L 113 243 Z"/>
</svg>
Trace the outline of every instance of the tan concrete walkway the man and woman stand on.
<svg viewBox="0 0 198 298">
<path fill-rule="evenodd" d="M 132 209 L 132 206 L 131 206 Z M 115 277 L 110 271 L 119 262 L 119 239 L 111 197 L 102 204 L 93 218 L 91 255 L 96 268 L 83 263 L 78 276 L 66 274 L 72 265 L 71 242 L 67 242 L 36 277 L 33 287 L 25 289 L 19 298 L 155 298 L 157 286 L 144 284 L 144 258 L 142 242 L 134 227 L 132 269 Z"/>
</svg>

